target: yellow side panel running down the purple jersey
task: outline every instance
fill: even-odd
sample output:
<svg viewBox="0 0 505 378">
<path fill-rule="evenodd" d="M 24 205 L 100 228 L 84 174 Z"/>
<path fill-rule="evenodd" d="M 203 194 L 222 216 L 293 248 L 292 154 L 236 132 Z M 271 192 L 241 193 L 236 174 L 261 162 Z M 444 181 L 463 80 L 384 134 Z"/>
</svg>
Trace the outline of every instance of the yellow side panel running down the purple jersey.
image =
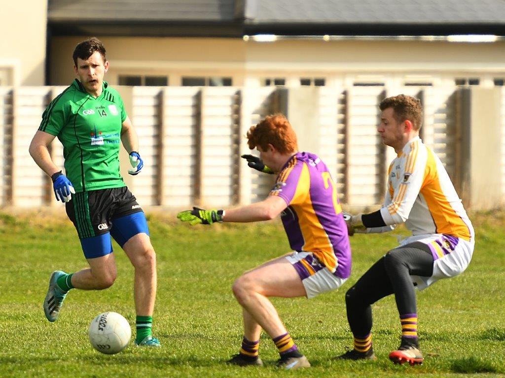
<svg viewBox="0 0 505 378">
<path fill-rule="evenodd" d="M 299 227 L 305 244 L 302 250 L 310 250 L 330 272 L 336 269 L 336 257 L 333 245 L 314 211 L 307 187 L 310 185 L 310 173 L 306 163 L 301 168 L 298 185 L 291 200 L 291 207 L 298 214 Z M 301 215 L 302 214 L 302 215 Z"/>
</svg>

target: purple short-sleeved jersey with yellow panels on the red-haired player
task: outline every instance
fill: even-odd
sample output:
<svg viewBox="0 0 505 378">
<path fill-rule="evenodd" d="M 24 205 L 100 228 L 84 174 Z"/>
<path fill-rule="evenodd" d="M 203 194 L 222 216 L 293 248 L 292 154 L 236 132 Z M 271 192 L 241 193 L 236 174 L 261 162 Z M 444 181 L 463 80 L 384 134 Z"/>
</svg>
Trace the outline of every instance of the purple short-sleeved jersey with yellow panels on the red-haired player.
<svg viewBox="0 0 505 378">
<path fill-rule="evenodd" d="M 277 176 L 271 196 L 286 201 L 281 219 L 293 250 L 312 252 L 341 278 L 350 275 L 350 246 L 337 190 L 326 164 L 297 152 Z"/>
</svg>

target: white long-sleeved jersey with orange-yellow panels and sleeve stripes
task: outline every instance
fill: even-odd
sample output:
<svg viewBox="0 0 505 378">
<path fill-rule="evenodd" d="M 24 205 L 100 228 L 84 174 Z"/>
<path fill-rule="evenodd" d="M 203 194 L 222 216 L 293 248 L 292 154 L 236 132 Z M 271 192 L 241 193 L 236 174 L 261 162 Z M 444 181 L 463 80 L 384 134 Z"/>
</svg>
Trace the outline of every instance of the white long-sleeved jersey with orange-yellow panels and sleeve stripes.
<svg viewBox="0 0 505 378">
<path fill-rule="evenodd" d="M 380 209 L 385 232 L 405 222 L 413 235 L 445 234 L 473 241 L 474 229 L 440 159 L 419 137 L 403 147 L 388 170 Z"/>
</svg>

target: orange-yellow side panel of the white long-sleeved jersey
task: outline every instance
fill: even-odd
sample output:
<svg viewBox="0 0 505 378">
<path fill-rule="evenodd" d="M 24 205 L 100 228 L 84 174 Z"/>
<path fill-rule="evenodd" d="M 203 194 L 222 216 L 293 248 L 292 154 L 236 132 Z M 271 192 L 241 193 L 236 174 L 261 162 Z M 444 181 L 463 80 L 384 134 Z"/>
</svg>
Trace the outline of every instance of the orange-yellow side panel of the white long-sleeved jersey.
<svg viewBox="0 0 505 378">
<path fill-rule="evenodd" d="M 465 240 L 470 240 L 470 230 L 463 222 L 461 217 L 450 206 L 447 201 L 437 173 L 436 161 L 433 152 L 427 148 L 428 157 L 425 168 L 425 179 L 421 187 L 421 194 L 428 205 L 428 210 L 433 217 L 436 226 L 436 233 L 448 234 L 456 237 L 461 237 Z M 435 173 L 435 176 L 429 177 L 430 173 Z M 430 185 L 425 185 L 427 180 L 430 180 Z"/>
</svg>

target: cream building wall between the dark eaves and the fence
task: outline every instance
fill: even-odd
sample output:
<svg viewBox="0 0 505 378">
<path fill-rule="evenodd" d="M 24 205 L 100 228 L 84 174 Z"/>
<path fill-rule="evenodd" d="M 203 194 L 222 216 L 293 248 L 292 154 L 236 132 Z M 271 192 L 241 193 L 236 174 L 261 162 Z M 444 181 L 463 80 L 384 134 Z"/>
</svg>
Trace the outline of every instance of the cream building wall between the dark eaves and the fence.
<svg viewBox="0 0 505 378">
<path fill-rule="evenodd" d="M 52 39 L 50 84 L 72 80 L 71 55 L 82 39 Z M 166 75 L 170 86 L 181 85 L 184 76 L 232 77 L 234 86 L 263 86 L 266 78 L 283 78 L 289 87 L 299 86 L 304 77 L 325 78 L 331 87 L 386 81 L 453 85 L 456 78 L 478 78 L 481 86 L 491 87 L 494 79 L 505 79 L 504 41 L 101 39 L 111 62 L 111 84 L 118 84 L 120 75 Z"/>
</svg>

